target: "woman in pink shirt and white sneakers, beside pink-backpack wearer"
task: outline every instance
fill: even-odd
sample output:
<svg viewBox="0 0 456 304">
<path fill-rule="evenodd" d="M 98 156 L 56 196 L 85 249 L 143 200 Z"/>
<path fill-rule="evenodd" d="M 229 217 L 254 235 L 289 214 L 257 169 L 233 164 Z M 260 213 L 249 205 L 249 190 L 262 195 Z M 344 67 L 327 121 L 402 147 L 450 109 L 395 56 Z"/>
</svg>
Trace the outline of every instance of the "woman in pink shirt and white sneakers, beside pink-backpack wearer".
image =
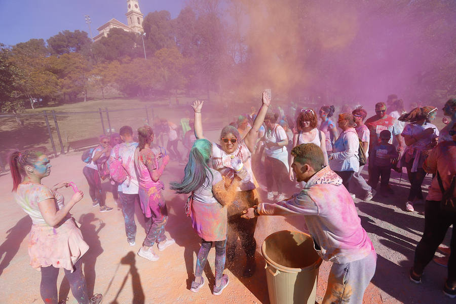
<svg viewBox="0 0 456 304">
<path fill-rule="evenodd" d="M 139 144 L 135 150 L 134 161 L 139 182 L 139 201 L 144 213 L 146 231 L 146 237 L 138 255 L 156 261 L 159 256 L 152 249 L 156 242 L 160 251 L 175 243 L 173 239 L 167 239 L 165 236 L 168 209 L 162 196 L 162 189 L 165 185 L 160 180 L 169 162 L 169 156 L 163 156 L 161 165 L 159 165 L 157 157 L 150 149 L 150 143 L 154 141 L 154 132 L 150 126 L 138 129 L 138 139 Z"/>
</svg>

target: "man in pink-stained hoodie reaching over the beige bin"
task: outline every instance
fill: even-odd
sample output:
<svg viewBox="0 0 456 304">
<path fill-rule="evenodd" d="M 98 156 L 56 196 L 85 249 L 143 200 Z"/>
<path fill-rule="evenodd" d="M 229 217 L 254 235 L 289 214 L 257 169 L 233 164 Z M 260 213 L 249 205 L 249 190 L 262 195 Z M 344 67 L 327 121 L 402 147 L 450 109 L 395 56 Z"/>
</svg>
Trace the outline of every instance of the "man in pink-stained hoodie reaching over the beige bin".
<svg viewBox="0 0 456 304">
<path fill-rule="evenodd" d="M 302 215 L 304 231 L 314 239 L 318 254 L 333 262 L 323 304 L 362 303 L 375 273 L 377 255 L 361 226 L 353 199 L 342 179 L 329 166 L 324 167 L 319 146 L 300 144 L 291 155 L 296 179 L 305 181 L 305 187 L 286 201 L 249 208 L 243 217 Z"/>
</svg>

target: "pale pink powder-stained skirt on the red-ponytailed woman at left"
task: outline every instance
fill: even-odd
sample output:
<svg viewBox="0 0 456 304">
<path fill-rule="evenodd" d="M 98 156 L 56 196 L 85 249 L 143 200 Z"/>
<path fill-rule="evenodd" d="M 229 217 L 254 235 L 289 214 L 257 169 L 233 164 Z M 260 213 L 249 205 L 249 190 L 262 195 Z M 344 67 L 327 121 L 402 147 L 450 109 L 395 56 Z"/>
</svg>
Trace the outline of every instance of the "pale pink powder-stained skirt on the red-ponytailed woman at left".
<svg viewBox="0 0 456 304">
<path fill-rule="evenodd" d="M 58 227 L 32 225 L 28 243 L 30 265 L 40 271 L 41 267 L 53 266 L 73 271 L 73 265 L 89 245 L 84 242 L 81 230 L 74 218 L 69 218 Z"/>
</svg>

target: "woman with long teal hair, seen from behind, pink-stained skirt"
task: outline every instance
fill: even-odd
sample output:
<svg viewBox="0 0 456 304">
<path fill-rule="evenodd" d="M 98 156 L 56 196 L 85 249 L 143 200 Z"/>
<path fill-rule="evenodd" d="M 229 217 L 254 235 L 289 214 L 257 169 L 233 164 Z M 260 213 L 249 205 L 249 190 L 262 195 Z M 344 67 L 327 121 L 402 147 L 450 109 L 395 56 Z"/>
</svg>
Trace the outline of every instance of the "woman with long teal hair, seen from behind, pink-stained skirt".
<svg viewBox="0 0 456 304">
<path fill-rule="evenodd" d="M 204 285 L 203 269 L 207 256 L 215 242 L 215 285 L 212 293 L 219 295 L 228 285 L 227 275 L 223 275 L 226 256 L 227 217 L 226 205 L 236 197 L 239 178 L 225 189 L 220 172 L 209 167 L 212 143 L 198 139 L 190 149 L 181 182 L 171 182 L 171 189 L 178 194 L 191 193 L 188 215 L 192 219 L 195 232 L 201 237 L 201 248 L 195 270 L 195 280 L 191 291 L 197 292 Z"/>
</svg>

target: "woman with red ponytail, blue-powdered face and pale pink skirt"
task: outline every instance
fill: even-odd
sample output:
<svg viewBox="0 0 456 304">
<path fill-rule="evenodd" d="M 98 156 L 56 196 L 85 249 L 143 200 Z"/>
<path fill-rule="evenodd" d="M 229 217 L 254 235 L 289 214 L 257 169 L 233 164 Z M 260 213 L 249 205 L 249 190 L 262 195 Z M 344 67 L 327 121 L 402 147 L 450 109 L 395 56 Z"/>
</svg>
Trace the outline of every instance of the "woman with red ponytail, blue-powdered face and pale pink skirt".
<svg viewBox="0 0 456 304">
<path fill-rule="evenodd" d="M 51 164 L 48 157 L 39 151 L 13 152 L 10 168 L 16 203 L 32 220 L 28 254 L 31 267 L 41 271 L 41 298 L 46 304 L 65 302 L 58 302 L 57 295 L 57 277 L 63 268 L 79 304 L 100 303 L 101 294 L 92 297 L 87 294 L 80 258 L 89 246 L 69 214 L 84 193 L 75 192 L 71 200 L 64 204 L 64 198 L 57 189 L 68 187 L 68 182 L 60 182 L 52 188 L 43 185 L 41 180 L 51 173 Z"/>
</svg>

